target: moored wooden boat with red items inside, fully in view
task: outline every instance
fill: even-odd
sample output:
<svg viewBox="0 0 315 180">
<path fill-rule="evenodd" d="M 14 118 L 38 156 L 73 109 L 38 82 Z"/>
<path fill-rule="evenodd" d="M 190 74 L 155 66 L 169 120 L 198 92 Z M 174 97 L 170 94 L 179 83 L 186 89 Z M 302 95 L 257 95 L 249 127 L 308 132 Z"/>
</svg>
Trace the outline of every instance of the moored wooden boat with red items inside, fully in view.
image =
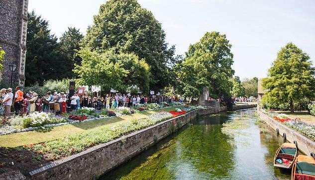
<svg viewBox="0 0 315 180">
<path fill-rule="evenodd" d="M 297 158 L 297 147 L 292 143 L 283 143 L 277 150 L 274 158 L 274 166 L 291 169 Z"/>
</svg>

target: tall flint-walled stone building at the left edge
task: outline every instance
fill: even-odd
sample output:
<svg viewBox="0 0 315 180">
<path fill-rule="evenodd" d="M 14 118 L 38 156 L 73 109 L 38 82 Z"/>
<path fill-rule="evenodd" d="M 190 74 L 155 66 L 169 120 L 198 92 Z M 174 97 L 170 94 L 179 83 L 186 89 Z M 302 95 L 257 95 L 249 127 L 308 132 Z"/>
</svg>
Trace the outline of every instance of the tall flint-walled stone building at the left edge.
<svg viewBox="0 0 315 180">
<path fill-rule="evenodd" d="M 16 65 L 13 85 L 24 86 L 28 0 L 0 0 L 0 46 L 5 51 L 0 79 L 11 81 L 9 65 Z"/>
</svg>

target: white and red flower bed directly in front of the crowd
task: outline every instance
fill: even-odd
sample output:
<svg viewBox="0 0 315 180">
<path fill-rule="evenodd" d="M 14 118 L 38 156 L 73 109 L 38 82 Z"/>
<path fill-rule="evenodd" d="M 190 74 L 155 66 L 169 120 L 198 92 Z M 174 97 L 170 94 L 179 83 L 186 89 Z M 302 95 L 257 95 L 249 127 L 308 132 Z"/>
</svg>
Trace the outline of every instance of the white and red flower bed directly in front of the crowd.
<svg viewBox="0 0 315 180">
<path fill-rule="evenodd" d="M 164 108 L 165 106 L 167 106 L 165 104 L 167 103 L 139 104 L 138 108 L 140 110 Z M 182 103 L 172 103 L 172 105 L 181 104 Z M 39 128 L 62 126 L 65 124 L 96 120 L 100 118 L 106 119 L 115 116 L 129 115 L 133 113 L 135 113 L 134 107 L 119 107 L 118 109 L 114 108 L 110 110 L 102 109 L 101 111 L 97 111 L 95 108 L 82 107 L 78 109 L 74 114 L 70 115 L 67 113 L 63 115 L 55 115 L 53 113 L 34 112 L 27 116 L 16 116 L 11 118 L 9 121 L 3 122 L 3 125 L 0 125 L 0 135 L 32 131 Z"/>
</svg>

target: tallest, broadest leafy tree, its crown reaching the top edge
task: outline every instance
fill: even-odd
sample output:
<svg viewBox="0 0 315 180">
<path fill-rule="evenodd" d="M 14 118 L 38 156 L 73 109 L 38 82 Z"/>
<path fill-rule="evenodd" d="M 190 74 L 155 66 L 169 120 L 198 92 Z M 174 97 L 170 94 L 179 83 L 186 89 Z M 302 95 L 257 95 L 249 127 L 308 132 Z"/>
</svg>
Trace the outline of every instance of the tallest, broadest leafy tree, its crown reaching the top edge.
<svg viewBox="0 0 315 180">
<path fill-rule="evenodd" d="M 92 51 L 113 48 L 116 53 L 134 53 L 150 66 L 152 88 L 169 84 L 167 65 L 176 61 L 175 47 L 168 48 L 161 24 L 136 0 L 106 1 L 82 44 Z"/>
</svg>

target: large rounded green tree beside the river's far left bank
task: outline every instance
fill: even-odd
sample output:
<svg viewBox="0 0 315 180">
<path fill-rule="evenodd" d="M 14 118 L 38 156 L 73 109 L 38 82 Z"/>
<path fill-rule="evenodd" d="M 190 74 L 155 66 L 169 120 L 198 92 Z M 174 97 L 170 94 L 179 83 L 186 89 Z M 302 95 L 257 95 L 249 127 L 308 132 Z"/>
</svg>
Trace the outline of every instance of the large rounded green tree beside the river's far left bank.
<svg viewBox="0 0 315 180">
<path fill-rule="evenodd" d="M 184 96 L 199 97 L 204 87 L 210 95 L 228 95 L 234 71 L 232 47 L 224 34 L 207 32 L 202 39 L 190 45 L 186 58 L 176 67 L 179 90 Z"/>
</svg>

